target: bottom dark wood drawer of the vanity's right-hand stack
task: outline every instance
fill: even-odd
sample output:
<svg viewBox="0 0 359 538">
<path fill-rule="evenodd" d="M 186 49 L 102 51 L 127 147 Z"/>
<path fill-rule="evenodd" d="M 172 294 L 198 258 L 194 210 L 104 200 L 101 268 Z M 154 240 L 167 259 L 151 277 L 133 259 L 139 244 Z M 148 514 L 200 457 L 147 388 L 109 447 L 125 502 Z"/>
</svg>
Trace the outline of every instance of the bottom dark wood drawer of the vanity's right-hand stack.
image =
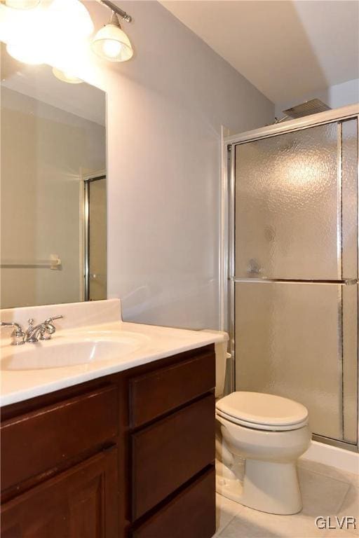
<svg viewBox="0 0 359 538">
<path fill-rule="evenodd" d="M 183 490 L 131 538 L 210 538 L 215 534 L 215 468 Z"/>
</svg>

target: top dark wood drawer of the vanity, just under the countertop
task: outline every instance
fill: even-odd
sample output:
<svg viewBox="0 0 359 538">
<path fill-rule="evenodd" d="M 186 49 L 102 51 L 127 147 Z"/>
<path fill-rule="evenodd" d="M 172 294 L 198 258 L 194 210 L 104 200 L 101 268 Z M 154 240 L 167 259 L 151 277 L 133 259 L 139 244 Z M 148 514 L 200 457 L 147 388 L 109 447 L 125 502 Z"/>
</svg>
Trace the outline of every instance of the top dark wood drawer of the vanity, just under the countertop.
<svg viewBox="0 0 359 538">
<path fill-rule="evenodd" d="M 215 387 L 214 347 L 130 380 L 130 426 L 138 427 Z"/>
</svg>

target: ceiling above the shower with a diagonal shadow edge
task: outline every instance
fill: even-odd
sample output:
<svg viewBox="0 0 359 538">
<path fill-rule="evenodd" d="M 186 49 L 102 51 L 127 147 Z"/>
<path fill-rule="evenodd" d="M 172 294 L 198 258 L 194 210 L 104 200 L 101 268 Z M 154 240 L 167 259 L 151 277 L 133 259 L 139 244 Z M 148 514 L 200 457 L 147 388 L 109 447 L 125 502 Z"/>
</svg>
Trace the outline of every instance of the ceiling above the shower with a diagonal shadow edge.
<svg viewBox="0 0 359 538">
<path fill-rule="evenodd" d="M 272 102 L 359 78 L 356 0 L 160 0 Z"/>
</svg>

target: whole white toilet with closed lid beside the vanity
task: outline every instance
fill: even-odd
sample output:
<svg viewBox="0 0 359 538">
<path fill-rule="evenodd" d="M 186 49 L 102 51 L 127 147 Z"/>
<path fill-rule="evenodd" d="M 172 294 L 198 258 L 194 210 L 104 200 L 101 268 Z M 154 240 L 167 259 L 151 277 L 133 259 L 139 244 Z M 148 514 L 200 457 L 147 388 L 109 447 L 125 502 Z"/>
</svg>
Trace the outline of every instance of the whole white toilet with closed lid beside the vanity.
<svg viewBox="0 0 359 538">
<path fill-rule="evenodd" d="M 226 352 L 216 345 L 216 490 L 268 513 L 302 510 L 297 459 L 311 441 L 302 403 L 273 394 L 222 396 Z"/>
</svg>

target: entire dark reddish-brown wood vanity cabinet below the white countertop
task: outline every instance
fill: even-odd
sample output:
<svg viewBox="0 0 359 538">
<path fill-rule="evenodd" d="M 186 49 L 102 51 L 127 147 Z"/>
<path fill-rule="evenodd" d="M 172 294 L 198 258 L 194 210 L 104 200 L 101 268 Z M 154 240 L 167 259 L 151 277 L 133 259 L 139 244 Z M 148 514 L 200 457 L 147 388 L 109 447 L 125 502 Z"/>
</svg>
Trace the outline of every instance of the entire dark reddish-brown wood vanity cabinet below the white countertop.
<svg viewBox="0 0 359 538">
<path fill-rule="evenodd" d="M 215 352 L 2 408 L 1 538 L 210 538 Z"/>
</svg>

